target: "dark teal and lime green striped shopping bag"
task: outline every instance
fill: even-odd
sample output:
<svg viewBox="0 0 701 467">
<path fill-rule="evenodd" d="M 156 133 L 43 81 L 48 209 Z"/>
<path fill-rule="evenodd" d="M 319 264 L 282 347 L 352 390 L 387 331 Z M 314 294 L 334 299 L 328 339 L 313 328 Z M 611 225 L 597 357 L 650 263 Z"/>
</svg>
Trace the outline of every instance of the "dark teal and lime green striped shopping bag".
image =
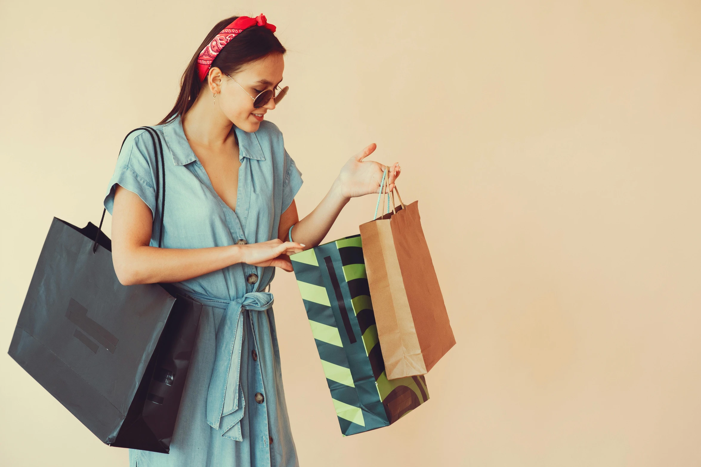
<svg viewBox="0 0 701 467">
<path fill-rule="evenodd" d="M 290 256 L 341 433 L 388 426 L 428 400 L 423 376 L 387 379 L 360 235 Z"/>
</svg>

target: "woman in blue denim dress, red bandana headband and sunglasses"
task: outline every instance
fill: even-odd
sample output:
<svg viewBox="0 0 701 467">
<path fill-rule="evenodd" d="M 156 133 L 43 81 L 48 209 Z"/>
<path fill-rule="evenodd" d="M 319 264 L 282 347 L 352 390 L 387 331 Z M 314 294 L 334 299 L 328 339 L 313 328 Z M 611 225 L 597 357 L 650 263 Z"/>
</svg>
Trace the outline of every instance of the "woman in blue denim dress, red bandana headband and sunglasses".
<svg viewBox="0 0 701 467">
<path fill-rule="evenodd" d="M 170 454 L 130 451 L 130 465 L 296 466 L 272 295 L 275 267 L 318 245 L 351 197 L 378 193 L 385 166 L 367 146 L 299 221 L 301 174 L 265 120 L 285 90 L 285 48 L 266 18 L 233 17 L 207 35 L 184 72 L 163 140 L 167 202 L 145 130 L 125 140 L 104 205 L 122 284 L 175 283 L 203 303 Z M 400 167 L 389 167 L 393 188 Z M 292 240 L 294 239 L 294 241 Z"/>
</svg>

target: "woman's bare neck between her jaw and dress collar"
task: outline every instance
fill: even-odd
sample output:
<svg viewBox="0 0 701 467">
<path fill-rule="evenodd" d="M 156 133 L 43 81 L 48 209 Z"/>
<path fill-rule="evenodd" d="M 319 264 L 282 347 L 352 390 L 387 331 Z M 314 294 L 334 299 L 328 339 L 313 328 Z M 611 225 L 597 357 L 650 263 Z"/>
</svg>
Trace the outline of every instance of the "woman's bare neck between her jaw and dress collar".
<svg viewBox="0 0 701 467">
<path fill-rule="evenodd" d="M 182 129 L 191 143 L 216 148 L 234 137 L 231 132 L 233 123 L 226 118 L 219 103 L 212 104 L 212 97 L 207 99 L 207 92 L 200 92 L 192 107 L 182 117 Z"/>
</svg>

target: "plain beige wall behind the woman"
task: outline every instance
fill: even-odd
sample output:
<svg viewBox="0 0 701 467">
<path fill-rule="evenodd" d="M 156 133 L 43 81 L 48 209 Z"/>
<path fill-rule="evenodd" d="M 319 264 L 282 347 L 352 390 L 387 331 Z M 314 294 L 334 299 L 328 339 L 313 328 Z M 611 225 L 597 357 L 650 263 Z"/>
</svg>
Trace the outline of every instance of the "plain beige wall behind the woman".
<svg viewBox="0 0 701 467">
<path fill-rule="evenodd" d="M 426 406 L 341 438 L 280 272 L 301 465 L 700 465 L 701 4 L 641 0 L 1 0 L 0 464 L 126 465 L 5 349 L 51 218 L 99 221 L 126 132 L 217 20 L 261 12 L 301 214 L 366 144 L 400 161 L 458 341 Z"/>
</svg>

